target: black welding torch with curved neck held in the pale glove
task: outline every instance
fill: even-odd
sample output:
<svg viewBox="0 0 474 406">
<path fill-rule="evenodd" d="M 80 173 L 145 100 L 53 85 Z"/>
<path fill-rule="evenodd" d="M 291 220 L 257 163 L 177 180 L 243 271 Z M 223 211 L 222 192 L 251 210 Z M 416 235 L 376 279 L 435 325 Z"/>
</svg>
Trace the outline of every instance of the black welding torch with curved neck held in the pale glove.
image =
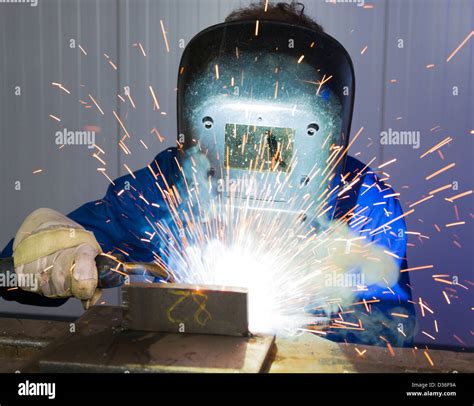
<svg viewBox="0 0 474 406">
<path fill-rule="evenodd" d="M 98 273 L 97 287 L 110 289 L 122 286 L 125 278 L 132 275 L 151 276 L 163 282 L 173 282 L 172 275 L 159 264 L 153 262 L 124 262 L 121 258 L 109 254 L 99 254 L 95 257 Z M 0 258 L 0 275 L 15 272 L 13 257 Z"/>
</svg>

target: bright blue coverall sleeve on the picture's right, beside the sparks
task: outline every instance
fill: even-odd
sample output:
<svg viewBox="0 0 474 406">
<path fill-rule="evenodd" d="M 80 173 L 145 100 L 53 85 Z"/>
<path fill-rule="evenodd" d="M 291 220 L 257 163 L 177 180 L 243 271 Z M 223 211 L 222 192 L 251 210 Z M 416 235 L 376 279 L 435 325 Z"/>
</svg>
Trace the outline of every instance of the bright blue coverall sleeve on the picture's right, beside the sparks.
<svg viewBox="0 0 474 406">
<path fill-rule="evenodd" d="M 364 167 L 358 160 L 348 157 L 346 172 L 351 172 L 351 180 Z M 334 331 L 329 338 L 370 345 L 386 345 L 388 341 L 393 346 L 410 346 L 415 333 L 415 309 L 408 272 L 402 272 L 407 268 L 407 236 L 398 195 L 370 168 L 366 168 L 340 206 L 339 216 L 354 210 L 349 223 L 352 231 L 387 251 L 400 272 L 393 286 L 369 285 L 366 290 L 357 293 L 355 303 L 358 304 L 352 306 L 353 313 L 345 320 L 354 323 L 360 320 L 364 331 Z M 398 314 L 406 317 L 400 318 Z"/>
</svg>

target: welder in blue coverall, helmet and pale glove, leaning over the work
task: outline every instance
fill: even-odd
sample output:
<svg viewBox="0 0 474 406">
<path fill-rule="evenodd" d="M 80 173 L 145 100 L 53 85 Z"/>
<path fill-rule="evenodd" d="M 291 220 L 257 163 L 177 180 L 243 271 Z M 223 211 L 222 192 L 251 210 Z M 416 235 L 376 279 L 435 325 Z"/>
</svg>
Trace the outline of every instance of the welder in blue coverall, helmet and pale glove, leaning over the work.
<svg viewBox="0 0 474 406">
<path fill-rule="evenodd" d="M 127 261 L 143 262 L 165 257 L 166 242 L 146 237 L 155 232 L 153 222 L 169 217 L 161 191 L 172 185 L 182 188 L 183 182 L 205 190 L 222 178 L 238 178 L 265 155 L 255 145 L 266 146 L 270 159 L 255 168 L 265 173 L 255 178 L 265 187 L 255 188 L 252 201 L 265 199 L 268 185 L 278 185 L 282 173 L 288 187 L 271 190 L 272 208 L 280 212 L 288 206 L 288 191 L 302 185 L 315 197 L 345 189 L 343 198 L 326 195 L 326 216 L 337 220 L 363 212 L 365 221 L 353 217 L 349 222 L 352 231 L 386 248 L 399 270 L 405 269 L 406 226 L 394 191 L 347 155 L 354 93 L 348 53 L 301 5 L 256 4 L 231 13 L 225 23 L 199 33 L 184 51 L 178 74 L 178 147 L 114 180 L 104 198 L 67 216 L 49 209 L 28 216 L 2 256 L 13 255 L 15 271 L 37 274 L 41 283 L 34 292 L 3 290 L 1 295 L 42 306 L 59 306 L 69 297 L 95 303 L 100 297 L 94 261 L 98 253 L 125 254 Z M 254 148 L 242 153 L 243 139 Z M 180 163 L 190 161 L 199 170 L 185 179 Z M 221 197 L 226 198 L 225 190 Z M 313 217 L 306 213 L 305 218 Z M 362 305 L 350 317 L 372 323 L 372 334 L 333 329 L 328 338 L 410 345 L 414 308 L 408 273 L 400 272 L 389 289 L 367 286 L 356 302 Z M 403 325 L 391 316 L 395 310 L 406 314 Z M 368 312 L 372 322 L 364 317 Z"/>
</svg>

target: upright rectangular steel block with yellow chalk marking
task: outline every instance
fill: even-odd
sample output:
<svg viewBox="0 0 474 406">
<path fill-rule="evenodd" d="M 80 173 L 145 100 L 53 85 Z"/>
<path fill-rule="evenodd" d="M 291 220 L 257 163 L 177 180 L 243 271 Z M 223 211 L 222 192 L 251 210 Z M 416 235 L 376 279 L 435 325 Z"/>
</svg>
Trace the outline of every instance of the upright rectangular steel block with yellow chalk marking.
<svg viewBox="0 0 474 406">
<path fill-rule="evenodd" d="M 130 283 L 122 288 L 122 308 L 128 330 L 248 335 L 245 289 Z"/>
</svg>

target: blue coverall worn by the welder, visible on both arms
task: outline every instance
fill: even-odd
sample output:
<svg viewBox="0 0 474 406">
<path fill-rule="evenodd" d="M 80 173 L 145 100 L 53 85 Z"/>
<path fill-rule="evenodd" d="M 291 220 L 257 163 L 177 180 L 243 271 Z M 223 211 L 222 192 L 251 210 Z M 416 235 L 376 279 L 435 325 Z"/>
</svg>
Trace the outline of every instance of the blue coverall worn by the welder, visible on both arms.
<svg viewBox="0 0 474 406">
<path fill-rule="evenodd" d="M 178 182 L 180 178 L 175 160 L 176 155 L 176 148 L 169 148 L 160 152 L 150 164 L 155 174 L 159 174 L 161 170 L 168 183 Z M 158 166 L 160 170 L 158 170 Z M 370 234 L 371 230 L 375 230 L 402 214 L 400 203 L 395 197 L 384 197 L 392 195 L 393 190 L 384 185 L 370 168 L 366 168 L 362 162 L 351 156 L 348 156 L 346 160 L 345 173 L 350 173 L 346 181 L 351 183 L 364 168 L 365 173 L 361 176 L 361 180 L 354 185 L 350 192 L 346 193 L 348 197 L 339 202 L 336 217 L 343 216 L 355 206 L 356 213 L 367 207 L 363 211 L 367 220 L 357 221 L 355 218 L 350 224 L 351 228 L 356 233 L 364 235 L 369 241 L 376 241 L 377 244 L 386 247 L 398 258 L 396 261 L 399 269 L 405 269 L 407 267 L 407 237 L 403 218 L 391 223 L 379 233 Z M 70 213 L 68 217 L 92 231 L 104 252 L 117 252 L 118 248 L 129 254 L 127 257 L 129 261 L 153 261 L 153 253 L 159 255 L 159 248 L 155 246 L 156 243 L 153 240 L 152 243 L 144 241 L 147 239 L 146 231 L 153 233 L 147 219 L 153 223 L 168 215 L 168 209 L 155 182 L 165 188 L 163 179 L 160 176 L 155 179 L 147 167 L 136 171 L 133 177 L 131 175 L 122 176 L 114 181 L 114 185 L 109 186 L 104 198 L 84 204 Z M 151 203 L 154 204 L 151 205 Z M 10 241 L 3 250 L 2 257 L 11 256 L 12 244 L 13 241 Z M 67 300 L 48 299 L 21 290 L 0 289 L 0 294 L 6 300 L 42 306 L 58 306 Z M 363 299 L 369 304 L 364 304 Z M 374 302 L 374 299 L 380 301 Z M 365 332 L 351 329 L 331 329 L 328 338 L 337 341 L 347 340 L 379 345 L 385 344 L 385 338 L 394 346 L 411 344 L 414 329 L 414 306 L 411 303 L 407 272 L 400 273 L 398 283 L 391 289 L 376 285 L 369 286 L 367 291 L 359 293 L 357 300 L 362 304 L 354 305 L 355 311 L 349 315 L 350 321 L 357 323 L 358 319 L 361 319 L 364 327 L 371 327 L 366 328 Z M 368 306 L 370 306 L 370 317 L 367 312 Z M 409 316 L 408 319 L 402 320 L 405 327 L 400 327 L 399 320 L 391 316 L 391 313 L 395 312 L 394 309 Z M 345 320 L 349 319 L 345 318 Z M 400 329 L 403 333 L 400 332 Z"/>
</svg>

